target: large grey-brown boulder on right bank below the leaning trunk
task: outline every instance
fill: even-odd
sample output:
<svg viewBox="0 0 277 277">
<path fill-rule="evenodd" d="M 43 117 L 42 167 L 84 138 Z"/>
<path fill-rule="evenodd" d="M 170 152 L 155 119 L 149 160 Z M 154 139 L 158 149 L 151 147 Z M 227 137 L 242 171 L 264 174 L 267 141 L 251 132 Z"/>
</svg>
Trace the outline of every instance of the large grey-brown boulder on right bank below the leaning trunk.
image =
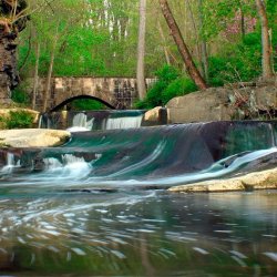
<svg viewBox="0 0 277 277">
<path fill-rule="evenodd" d="M 276 115 L 277 86 L 211 88 L 167 104 L 168 123 L 229 121 Z"/>
</svg>

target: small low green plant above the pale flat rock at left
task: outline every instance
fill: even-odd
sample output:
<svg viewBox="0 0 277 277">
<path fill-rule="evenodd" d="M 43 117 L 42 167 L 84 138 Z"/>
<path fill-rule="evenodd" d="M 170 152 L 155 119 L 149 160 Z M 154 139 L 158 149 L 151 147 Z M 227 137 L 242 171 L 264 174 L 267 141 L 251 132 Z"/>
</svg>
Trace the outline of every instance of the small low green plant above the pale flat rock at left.
<svg viewBox="0 0 277 277">
<path fill-rule="evenodd" d="M 10 111 L 4 125 L 7 129 L 25 129 L 32 126 L 33 120 L 34 115 L 27 111 Z"/>
</svg>

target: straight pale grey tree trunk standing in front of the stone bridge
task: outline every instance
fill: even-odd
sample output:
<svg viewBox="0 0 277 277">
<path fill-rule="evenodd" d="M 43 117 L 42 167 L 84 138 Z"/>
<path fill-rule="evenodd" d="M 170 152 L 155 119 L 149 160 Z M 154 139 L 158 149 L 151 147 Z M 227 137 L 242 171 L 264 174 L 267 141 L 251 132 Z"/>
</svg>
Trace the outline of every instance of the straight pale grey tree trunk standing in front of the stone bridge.
<svg viewBox="0 0 277 277">
<path fill-rule="evenodd" d="M 146 0 L 140 0 L 140 29 L 137 44 L 137 68 L 136 82 L 140 100 L 143 100 L 146 94 L 145 85 L 145 32 L 146 32 Z"/>
</svg>

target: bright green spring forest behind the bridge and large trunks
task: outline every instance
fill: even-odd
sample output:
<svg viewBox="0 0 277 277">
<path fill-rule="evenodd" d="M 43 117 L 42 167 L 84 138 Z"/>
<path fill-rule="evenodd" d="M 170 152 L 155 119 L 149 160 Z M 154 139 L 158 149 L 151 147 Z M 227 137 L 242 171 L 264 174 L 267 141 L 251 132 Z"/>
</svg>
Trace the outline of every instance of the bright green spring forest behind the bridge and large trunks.
<svg viewBox="0 0 277 277">
<path fill-rule="evenodd" d="M 45 4 L 47 2 L 47 4 Z M 277 70 L 277 1 L 267 0 L 273 64 Z M 43 3 L 43 9 L 41 4 Z M 261 75 L 260 21 L 254 0 L 168 0 L 193 59 L 211 86 Z M 20 76 L 135 76 L 138 1 L 30 1 L 19 38 Z M 137 107 L 164 105 L 196 89 L 157 0 L 146 8 L 145 76 L 157 78 Z M 28 102 L 24 82 L 13 99 Z"/>
</svg>

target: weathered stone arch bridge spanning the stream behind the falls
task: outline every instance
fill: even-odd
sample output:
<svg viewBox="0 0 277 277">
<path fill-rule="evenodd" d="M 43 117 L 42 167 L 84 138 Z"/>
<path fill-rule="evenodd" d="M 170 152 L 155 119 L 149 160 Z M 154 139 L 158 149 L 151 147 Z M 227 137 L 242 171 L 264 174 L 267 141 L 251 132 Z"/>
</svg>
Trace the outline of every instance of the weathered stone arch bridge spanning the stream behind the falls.
<svg viewBox="0 0 277 277">
<path fill-rule="evenodd" d="M 155 80 L 146 79 L 146 86 Z M 41 111 L 45 79 L 39 80 L 35 109 Z M 29 93 L 32 93 L 30 80 Z M 52 78 L 48 111 L 58 110 L 76 99 L 95 99 L 111 109 L 132 109 L 137 100 L 136 79 L 133 78 Z"/>
</svg>

